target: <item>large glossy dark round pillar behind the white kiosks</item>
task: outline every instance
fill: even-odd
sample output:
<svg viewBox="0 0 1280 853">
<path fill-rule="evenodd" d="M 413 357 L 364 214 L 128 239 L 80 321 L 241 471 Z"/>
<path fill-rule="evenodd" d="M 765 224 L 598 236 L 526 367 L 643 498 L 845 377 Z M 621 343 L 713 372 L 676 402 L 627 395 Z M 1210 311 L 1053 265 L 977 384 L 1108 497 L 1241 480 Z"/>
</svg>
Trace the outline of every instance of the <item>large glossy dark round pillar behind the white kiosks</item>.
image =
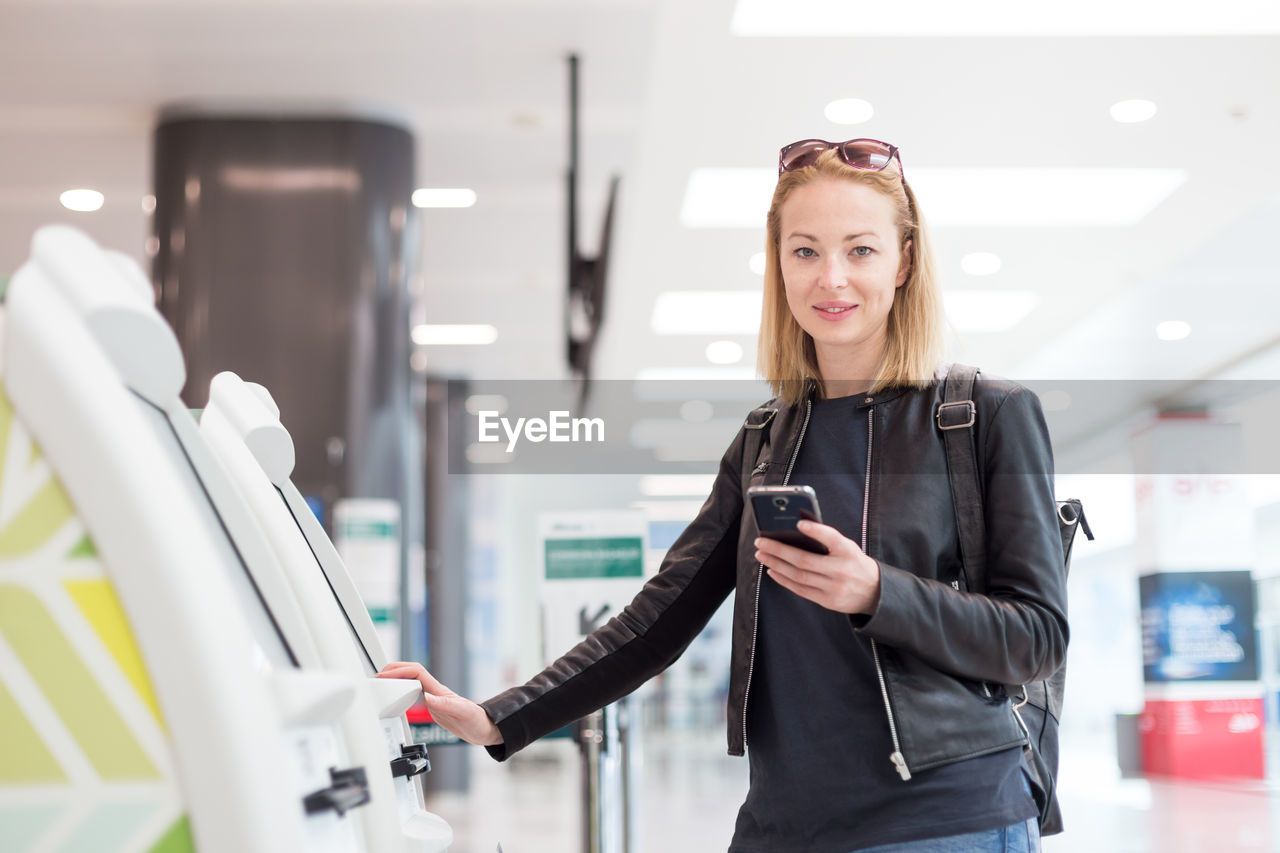
<svg viewBox="0 0 1280 853">
<path fill-rule="evenodd" d="M 393 498 L 406 520 L 412 191 L 413 140 L 384 123 L 173 115 L 155 133 L 154 279 L 188 405 L 220 370 L 261 382 L 303 494 Z"/>
</svg>

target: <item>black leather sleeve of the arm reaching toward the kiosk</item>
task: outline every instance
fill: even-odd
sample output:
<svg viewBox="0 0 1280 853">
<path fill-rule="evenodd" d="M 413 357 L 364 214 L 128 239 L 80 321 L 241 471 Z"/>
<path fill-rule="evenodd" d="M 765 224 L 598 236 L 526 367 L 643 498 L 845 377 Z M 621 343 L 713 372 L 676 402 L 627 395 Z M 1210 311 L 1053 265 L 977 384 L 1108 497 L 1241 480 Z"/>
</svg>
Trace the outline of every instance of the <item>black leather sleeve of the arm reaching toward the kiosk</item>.
<svg viewBox="0 0 1280 853">
<path fill-rule="evenodd" d="M 698 637 L 736 578 L 742 515 L 742 432 L 721 460 L 712 493 L 626 608 L 522 686 L 480 703 L 502 733 L 504 761 L 545 734 L 626 695 Z"/>
</svg>

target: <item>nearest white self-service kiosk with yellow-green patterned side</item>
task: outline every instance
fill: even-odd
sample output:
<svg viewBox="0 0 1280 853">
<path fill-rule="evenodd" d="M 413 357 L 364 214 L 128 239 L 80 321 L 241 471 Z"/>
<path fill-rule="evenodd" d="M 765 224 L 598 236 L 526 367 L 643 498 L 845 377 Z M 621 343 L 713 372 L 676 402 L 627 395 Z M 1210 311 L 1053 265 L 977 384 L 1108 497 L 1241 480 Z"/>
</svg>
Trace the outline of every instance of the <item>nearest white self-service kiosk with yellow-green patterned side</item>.
<svg viewBox="0 0 1280 853">
<path fill-rule="evenodd" d="M 5 849 L 444 849 L 379 724 L 416 683 L 328 663 L 141 270 L 42 229 L 0 316 Z"/>
</svg>

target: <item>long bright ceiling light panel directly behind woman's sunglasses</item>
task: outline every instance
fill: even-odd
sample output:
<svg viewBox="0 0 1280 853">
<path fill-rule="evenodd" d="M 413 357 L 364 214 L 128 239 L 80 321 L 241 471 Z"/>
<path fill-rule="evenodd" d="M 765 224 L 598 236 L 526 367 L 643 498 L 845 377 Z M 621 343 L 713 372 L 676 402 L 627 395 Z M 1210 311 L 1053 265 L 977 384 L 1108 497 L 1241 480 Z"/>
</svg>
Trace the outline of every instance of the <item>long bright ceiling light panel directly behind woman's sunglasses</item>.
<svg viewBox="0 0 1280 853">
<path fill-rule="evenodd" d="M 925 222 L 941 227 L 1133 225 L 1187 182 L 1185 169 L 908 169 Z M 694 169 L 680 222 L 764 228 L 774 169 Z"/>
</svg>

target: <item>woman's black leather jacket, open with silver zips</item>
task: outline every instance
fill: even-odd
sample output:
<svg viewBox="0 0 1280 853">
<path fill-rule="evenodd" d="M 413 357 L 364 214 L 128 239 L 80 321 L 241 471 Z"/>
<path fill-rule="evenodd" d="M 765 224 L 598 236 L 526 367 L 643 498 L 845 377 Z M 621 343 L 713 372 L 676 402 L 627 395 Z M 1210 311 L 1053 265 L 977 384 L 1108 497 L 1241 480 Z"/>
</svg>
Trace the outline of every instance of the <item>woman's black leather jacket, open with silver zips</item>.
<svg viewBox="0 0 1280 853">
<path fill-rule="evenodd" d="M 882 694 L 896 747 L 884 760 L 902 779 L 1021 744 L 1004 685 L 1044 679 L 1066 656 L 1062 546 L 1039 400 L 987 375 L 974 386 L 988 542 L 979 594 L 966 590 L 960 562 L 934 424 L 941 393 L 941 383 L 888 388 L 859 406 L 869 444 L 863 547 L 879 564 L 881 597 L 873 615 L 850 617 L 850 630 L 873 640 L 881 683 L 872 689 Z M 808 402 L 778 410 L 751 484 L 787 480 L 808 414 Z M 744 753 L 762 574 L 741 487 L 745 432 L 721 460 L 698 517 L 635 599 L 527 684 L 481 703 L 504 739 L 490 754 L 503 760 L 660 672 L 735 590 L 728 751 Z"/>
</svg>

